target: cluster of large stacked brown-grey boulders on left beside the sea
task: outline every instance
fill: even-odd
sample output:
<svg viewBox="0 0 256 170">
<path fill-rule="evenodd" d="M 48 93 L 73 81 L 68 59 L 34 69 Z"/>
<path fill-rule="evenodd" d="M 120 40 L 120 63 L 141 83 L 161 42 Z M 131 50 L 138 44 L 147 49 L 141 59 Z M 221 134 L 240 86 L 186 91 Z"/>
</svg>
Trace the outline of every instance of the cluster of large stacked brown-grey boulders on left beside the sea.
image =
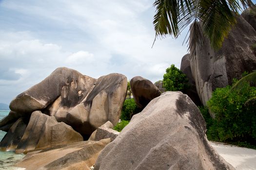
<svg viewBox="0 0 256 170">
<path fill-rule="evenodd" d="M 107 121 L 118 123 L 126 90 L 122 74 L 94 79 L 57 68 L 10 103 L 11 112 L 0 121 L 7 132 L 0 147 L 26 153 L 88 139 Z"/>
</svg>

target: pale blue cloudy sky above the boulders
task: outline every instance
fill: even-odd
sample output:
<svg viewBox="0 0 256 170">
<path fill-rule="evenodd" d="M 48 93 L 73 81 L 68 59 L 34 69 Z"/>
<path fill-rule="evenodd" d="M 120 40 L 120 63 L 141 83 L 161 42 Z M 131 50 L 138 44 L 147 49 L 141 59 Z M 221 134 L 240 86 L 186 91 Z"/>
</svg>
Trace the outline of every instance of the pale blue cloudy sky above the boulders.
<svg viewBox="0 0 256 170">
<path fill-rule="evenodd" d="M 161 80 L 187 53 L 186 31 L 155 39 L 154 0 L 0 0 L 0 102 L 58 67 L 98 78 Z"/>
</svg>

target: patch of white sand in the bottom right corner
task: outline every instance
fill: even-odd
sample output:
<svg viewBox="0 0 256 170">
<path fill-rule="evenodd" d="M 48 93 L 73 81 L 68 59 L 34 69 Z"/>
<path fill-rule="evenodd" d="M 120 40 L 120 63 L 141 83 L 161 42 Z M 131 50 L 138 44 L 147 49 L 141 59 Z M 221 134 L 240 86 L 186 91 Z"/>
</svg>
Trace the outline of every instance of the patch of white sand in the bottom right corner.
<svg viewBox="0 0 256 170">
<path fill-rule="evenodd" d="M 219 142 L 210 143 L 236 170 L 256 170 L 256 150 Z"/>
</svg>

